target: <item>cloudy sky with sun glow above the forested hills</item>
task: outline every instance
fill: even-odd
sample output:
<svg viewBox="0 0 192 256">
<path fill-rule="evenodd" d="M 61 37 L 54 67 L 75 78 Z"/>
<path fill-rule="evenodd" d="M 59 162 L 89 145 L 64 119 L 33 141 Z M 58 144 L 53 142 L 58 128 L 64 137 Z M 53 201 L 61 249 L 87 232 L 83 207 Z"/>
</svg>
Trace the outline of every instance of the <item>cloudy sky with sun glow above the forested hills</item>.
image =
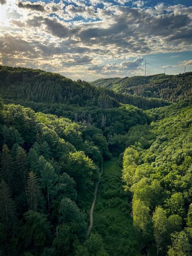
<svg viewBox="0 0 192 256">
<path fill-rule="evenodd" d="M 0 63 L 73 80 L 192 71 L 191 0 L 0 0 Z"/>
</svg>

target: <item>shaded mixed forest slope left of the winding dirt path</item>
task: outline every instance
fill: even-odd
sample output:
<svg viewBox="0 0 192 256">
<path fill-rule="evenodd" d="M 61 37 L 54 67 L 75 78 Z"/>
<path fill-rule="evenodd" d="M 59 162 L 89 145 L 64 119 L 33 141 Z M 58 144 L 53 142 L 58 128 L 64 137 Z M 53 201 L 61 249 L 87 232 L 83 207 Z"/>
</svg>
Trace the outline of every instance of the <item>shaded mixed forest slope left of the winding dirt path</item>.
<svg viewBox="0 0 192 256">
<path fill-rule="evenodd" d="M 22 141 L 8 137 L 4 124 L 18 131 Z M 2 106 L 0 131 L 11 150 L 2 147 L 0 178 L 13 192 L 1 181 L 0 222 L 2 234 L 7 232 L 0 240 L 2 254 L 23 254 L 34 247 L 38 255 L 62 255 L 64 248 L 66 254 L 73 253 L 73 243 L 83 243 L 87 229 L 87 216 L 75 200 L 86 204 L 102 156 L 109 155 L 103 132 L 13 104 Z"/>
</svg>

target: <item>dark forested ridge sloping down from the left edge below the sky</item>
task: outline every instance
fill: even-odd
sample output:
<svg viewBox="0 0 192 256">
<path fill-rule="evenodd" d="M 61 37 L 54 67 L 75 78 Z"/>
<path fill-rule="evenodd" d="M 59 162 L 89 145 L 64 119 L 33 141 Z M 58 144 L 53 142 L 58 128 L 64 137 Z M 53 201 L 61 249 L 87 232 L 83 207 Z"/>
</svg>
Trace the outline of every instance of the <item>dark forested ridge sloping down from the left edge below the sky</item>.
<svg viewBox="0 0 192 256">
<path fill-rule="evenodd" d="M 62 75 L 39 69 L 0 66 L 0 83 L 0 94 L 7 102 L 24 100 L 25 105 L 32 101 L 49 106 L 57 103 L 106 109 L 123 103 L 149 109 L 169 104 L 162 99 L 122 95 L 107 88 L 96 88 L 85 81 L 75 82 Z"/>
</svg>

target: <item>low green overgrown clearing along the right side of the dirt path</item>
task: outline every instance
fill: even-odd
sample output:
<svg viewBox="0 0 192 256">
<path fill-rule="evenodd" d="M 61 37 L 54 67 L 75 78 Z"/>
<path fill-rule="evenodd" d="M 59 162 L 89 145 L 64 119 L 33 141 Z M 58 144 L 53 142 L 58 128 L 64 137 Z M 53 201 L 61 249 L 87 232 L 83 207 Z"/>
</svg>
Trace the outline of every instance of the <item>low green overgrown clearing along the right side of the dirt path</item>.
<svg viewBox="0 0 192 256">
<path fill-rule="evenodd" d="M 102 235 L 110 256 L 141 255 L 117 157 L 103 163 L 93 219 L 92 232 Z"/>
</svg>

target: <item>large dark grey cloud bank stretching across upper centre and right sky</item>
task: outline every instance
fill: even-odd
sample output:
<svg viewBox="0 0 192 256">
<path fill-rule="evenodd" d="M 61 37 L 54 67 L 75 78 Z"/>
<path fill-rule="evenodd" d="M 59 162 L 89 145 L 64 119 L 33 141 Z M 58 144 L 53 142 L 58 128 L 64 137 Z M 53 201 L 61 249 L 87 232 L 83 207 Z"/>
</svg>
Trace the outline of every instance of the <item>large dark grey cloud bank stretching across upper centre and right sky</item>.
<svg viewBox="0 0 192 256">
<path fill-rule="evenodd" d="M 86 9 L 86 7 L 77 8 L 70 5 L 66 6 L 65 11 L 66 13 L 68 11 L 70 14 L 83 13 L 85 17 L 88 17 L 90 15 L 90 9 Z M 97 10 L 98 13 L 99 10 Z M 73 48 L 78 53 L 84 53 L 87 50 L 85 48 L 90 48 L 94 45 L 97 45 L 100 49 L 102 46 L 108 47 L 109 45 L 113 45 L 115 52 L 118 51 L 119 54 L 131 52 L 142 52 L 145 54 L 150 52 L 153 45 L 156 45 L 159 39 L 158 37 L 164 39 L 164 42 L 170 41 L 171 38 L 174 41 L 174 37 L 182 40 L 182 32 L 179 31 L 186 26 L 190 26 L 190 18 L 188 15 L 182 15 L 181 12 L 178 15 L 165 13 L 155 16 L 141 9 L 111 6 L 105 10 L 105 13 L 110 13 L 109 22 L 106 24 L 103 21 L 96 23 L 81 22 L 69 27 L 65 22 L 58 20 L 56 17 L 33 17 L 27 20 L 27 24 L 34 27 L 44 24 L 46 26 L 46 32 L 60 39 L 76 37 L 78 40 L 73 41 L 70 48 Z M 104 16 L 105 13 L 103 14 Z M 189 33 L 186 31 L 185 35 L 183 35 L 183 40 L 188 40 L 187 34 Z M 82 45 L 80 47 L 78 45 L 79 43 L 83 43 L 84 47 Z M 100 50 L 97 51 L 100 52 Z"/>
</svg>

